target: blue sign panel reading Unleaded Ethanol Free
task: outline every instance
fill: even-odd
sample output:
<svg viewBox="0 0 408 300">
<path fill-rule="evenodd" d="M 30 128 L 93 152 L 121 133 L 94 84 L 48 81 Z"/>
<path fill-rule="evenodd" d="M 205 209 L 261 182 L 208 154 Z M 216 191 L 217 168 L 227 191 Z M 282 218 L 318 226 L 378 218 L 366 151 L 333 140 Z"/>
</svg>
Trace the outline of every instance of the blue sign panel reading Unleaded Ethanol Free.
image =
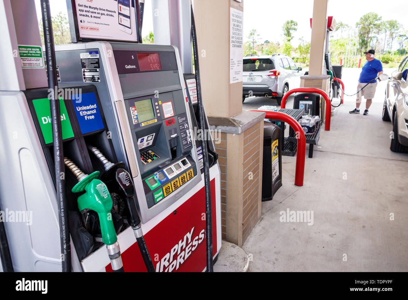
<svg viewBox="0 0 408 300">
<path fill-rule="evenodd" d="M 104 129 L 95 93 L 82 93 L 79 96 L 71 95 L 71 100 L 81 133 Z M 77 100 L 78 98 L 79 100 Z"/>
</svg>

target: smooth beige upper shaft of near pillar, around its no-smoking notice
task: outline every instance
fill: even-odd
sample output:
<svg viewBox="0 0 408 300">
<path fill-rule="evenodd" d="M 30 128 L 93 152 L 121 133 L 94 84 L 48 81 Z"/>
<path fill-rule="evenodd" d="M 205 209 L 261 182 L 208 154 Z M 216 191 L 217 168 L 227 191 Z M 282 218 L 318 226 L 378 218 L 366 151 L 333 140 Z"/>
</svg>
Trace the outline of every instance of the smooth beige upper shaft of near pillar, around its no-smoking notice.
<svg viewBox="0 0 408 300">
<path fill-rule="evenodd" d="M 230 7 L 235 0 L 195 0 L 202 96 L 208 116 L 232 117 L 242 111 L 242 81 L 230 84 Z"/>
</svg>

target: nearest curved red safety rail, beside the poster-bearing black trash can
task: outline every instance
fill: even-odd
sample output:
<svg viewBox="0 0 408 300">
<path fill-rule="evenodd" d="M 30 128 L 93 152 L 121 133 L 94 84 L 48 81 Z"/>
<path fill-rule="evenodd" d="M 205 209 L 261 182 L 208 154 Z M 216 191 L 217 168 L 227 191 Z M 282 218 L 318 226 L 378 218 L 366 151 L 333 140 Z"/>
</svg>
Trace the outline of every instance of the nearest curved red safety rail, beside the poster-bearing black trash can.
<svg viewBox="0 0 408 300">
<path fill-rule="evenodd" d="M 302 187 L 305 173 L 305 153 L 306 153 L 306 138 L 302 126 L 300 126 L 299 122 L 297 122 L 291 116 L 288 116 L 286 113 L 279 113 L 278 111 L 261 111 L 261 112 L 266 113 L 265 119 L 279 120 L 288 123 L 290 127 L 292 127 L 295 130 L 296 136 L 299 135 L 296 150 L 295 185 L 297 185 L 298 187 Z M 281 142 L 282 148 L 283 142 L 284 141 Z"/>
</svg>

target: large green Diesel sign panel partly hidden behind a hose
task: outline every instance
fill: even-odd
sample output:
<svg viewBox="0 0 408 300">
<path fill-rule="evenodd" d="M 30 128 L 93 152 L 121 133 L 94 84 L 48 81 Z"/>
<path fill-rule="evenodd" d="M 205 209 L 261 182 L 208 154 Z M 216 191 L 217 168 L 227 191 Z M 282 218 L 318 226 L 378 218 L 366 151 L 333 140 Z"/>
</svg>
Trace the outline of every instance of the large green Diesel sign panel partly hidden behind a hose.
<svg viewBox="0 0 408 300">
<path fill-rule="evenodd" d="M 52 143 L 52 124 L 51 124 L 51 108 L 50 100 L 48 98 L 33 100 L 35 113 L 37 114 L 38 122 L 44 142 L 46 144 Z M 67 108 L 65 107 L 64 100 L 60 99 L 60 113 L 61 113 L 61 130 L 62 139 L 72 138 L 74 133 L 72 131 L 71 122 L 69 122 L 69 116 Z"/>
</svg>

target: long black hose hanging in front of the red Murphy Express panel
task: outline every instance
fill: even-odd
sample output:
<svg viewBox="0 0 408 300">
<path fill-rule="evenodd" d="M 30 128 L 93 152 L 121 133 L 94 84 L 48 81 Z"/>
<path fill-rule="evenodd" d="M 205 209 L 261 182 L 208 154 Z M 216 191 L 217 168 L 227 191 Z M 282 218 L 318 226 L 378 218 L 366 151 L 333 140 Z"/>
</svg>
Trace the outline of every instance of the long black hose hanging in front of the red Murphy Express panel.
<svg viewBox="0 0 408 300">
<path fill-rule="evenodd" d="M 195 31 L 193 5 L 191 5 L 191 37 L 193 40 L 194 66 L 195 66 L 195 82 L 197 85 L 197 102 L 200 116 L 200 128 L 204 127 L 204 104 L 201 96 L 201 82 L 200 82 L 200 65 L 198 63 L 198 46 L 197 46 L 197 32 Z M 207 272 L 213 271 L 213 224 L 211 213 L 211 189 L 210 189 L 210 165 L 208 163 L 207 142 L 203 136 L 201 140 L 201 149 L 203 154 L 204 164 L 204 189 L 205 189 L 205 223 L 206 223 L 206 242 L 207 242 Z"/>
</svg>

